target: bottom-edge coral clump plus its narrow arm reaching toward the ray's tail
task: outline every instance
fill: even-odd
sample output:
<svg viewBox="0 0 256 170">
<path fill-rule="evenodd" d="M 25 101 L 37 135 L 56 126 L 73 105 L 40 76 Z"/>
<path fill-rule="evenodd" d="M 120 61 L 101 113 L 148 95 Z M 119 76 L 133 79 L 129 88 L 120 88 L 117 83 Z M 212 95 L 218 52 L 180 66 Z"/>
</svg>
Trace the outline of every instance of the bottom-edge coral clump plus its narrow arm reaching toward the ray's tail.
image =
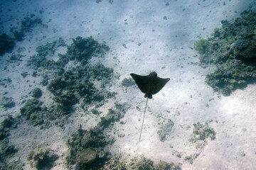
<svg viewBox="0 0 256 170">
<path fill-rule="evenodd" d="M 67 157 L 69 166 L 75 164 L 79 169 L 100 169 L 105 162 L 110 161 L 110 153 L 103 148 L 114 142 L 114 137 L 106 134 L 114 122 L 124 116 L 125 105 L 116 103 L 115 108 L 109 110 L 105 117 L 100 119 L 95 128 L 82 130 L 82 126 L 67 141 L 70 154 Z M 90 157 L 90 158 L 89 158 Z"/>
</svg>

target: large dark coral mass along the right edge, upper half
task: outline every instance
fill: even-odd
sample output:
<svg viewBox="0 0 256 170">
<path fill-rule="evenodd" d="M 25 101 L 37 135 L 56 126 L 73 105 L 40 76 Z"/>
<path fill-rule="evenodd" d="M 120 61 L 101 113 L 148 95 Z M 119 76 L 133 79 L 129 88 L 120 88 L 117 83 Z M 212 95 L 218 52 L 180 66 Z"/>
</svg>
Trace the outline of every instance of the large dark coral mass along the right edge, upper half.
<svg viewBox="0 0 256 170">
<path fill-rule="evenodd" d="M 195 43 L 201 64 L 214 63 L 215 72 L 206 82 L 228 96 L 232 91 L 255 82 L 256 77 L 256 11 L 243 11 L 233 23 L 222 21 L 213 36 Z"/>
</svg>

